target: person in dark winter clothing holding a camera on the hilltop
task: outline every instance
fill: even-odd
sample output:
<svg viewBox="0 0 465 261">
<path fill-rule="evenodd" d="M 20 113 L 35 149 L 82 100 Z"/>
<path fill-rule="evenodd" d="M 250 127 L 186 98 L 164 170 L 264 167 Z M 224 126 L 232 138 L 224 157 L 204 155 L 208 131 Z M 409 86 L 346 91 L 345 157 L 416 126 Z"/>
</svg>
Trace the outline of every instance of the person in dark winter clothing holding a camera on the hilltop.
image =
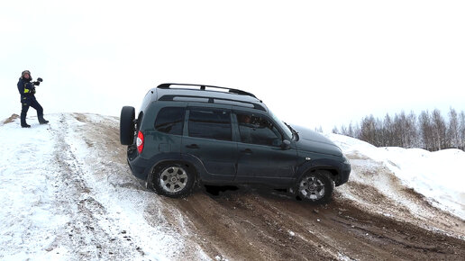
<svg viewBox="0 0 465 261">
<path fill-rule="evenodd" d="M 18 91 L 21 94 L 21 127 L 22 128 L 30 128 L 31 125 L 26 123 L 26 114 L 31 106 L 37 111 L 37 118 L 39 119 L 39 123 L 46 124 L 49 121 L 43 119 L 43 109 L 41 104 L 37 102 L 35 99 L 35 86 L 40 85 L 42 78 L 37 78 L 37 81 L 32 82 L 31 72 L 28 70 L 23 71 L 21 77 L 18 82 Z"/>
</svg>

